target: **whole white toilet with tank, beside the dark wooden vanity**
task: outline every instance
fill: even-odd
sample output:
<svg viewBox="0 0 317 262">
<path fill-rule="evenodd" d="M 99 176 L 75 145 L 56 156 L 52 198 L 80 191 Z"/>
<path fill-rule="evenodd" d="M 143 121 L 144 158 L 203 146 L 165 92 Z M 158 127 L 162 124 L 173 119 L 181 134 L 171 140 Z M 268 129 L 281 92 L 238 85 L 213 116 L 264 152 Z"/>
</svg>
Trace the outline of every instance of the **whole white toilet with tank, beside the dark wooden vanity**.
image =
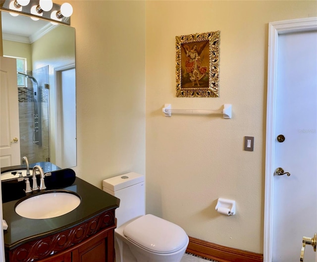
<svg viewBox="0 0 317 262">
<path fill-rule="evenodd" d="M 120 199 L 115 211 L 116 262 L 180 262 L 189 238 L 178 225 L 145 214 L 145 179 L 131 172 L 105 179 L 103 189 Z"/>
</svg>

